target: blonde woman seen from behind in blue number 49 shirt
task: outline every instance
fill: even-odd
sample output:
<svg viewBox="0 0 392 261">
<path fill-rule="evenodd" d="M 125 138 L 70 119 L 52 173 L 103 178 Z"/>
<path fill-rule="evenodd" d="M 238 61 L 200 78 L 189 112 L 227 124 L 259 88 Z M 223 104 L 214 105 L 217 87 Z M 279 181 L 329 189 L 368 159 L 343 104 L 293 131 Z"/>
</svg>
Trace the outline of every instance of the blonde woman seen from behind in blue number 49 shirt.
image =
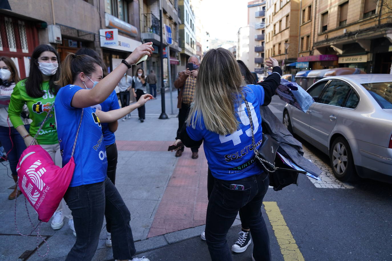
<svg viewBox="0 0 392 261">
<path fill-rule="evenodd" d="M 278 61 L 269 81 L 246 85 L 238 63 L 225 49 L 209 50 L 201 62 L 194 104 L 180 137 L 187 147 L 204 141 L 205 156 L 215 178 L 207 207 L 205 238 L 212 261 L 230 261 L 226 234 L 239 209 L 249 224 L 254 242 L 253 260 L 270 260 L 269 236 L 261 204 L 269 175 L 258 166 L 252 146 L 252 132 L 245 102 L 254 123 L 256 146 L 262 141 L 259 106 L 269 103 L 280 82 Z"/>
</svg>

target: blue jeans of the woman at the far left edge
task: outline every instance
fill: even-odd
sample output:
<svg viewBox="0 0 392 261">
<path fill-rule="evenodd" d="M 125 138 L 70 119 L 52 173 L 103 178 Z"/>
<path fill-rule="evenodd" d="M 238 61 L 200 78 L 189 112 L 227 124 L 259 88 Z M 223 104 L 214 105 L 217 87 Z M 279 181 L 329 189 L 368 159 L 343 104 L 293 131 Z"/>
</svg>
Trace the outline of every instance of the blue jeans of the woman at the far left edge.
<svg viewBox="0 0 392 261">
<path fill-rule="evenodd" d="M 25 125 L 25 128 L 27 132 L 29 132 L 30 125 Z M 0 142 L 4 147 L 5 153 L 8 153 L 9 151 L 7 156 L 9 168 L 11 169 L 12 175 L 17 176 L 18 173 L 16 173 L 16 165 L 18 165 L 20 155 L 22 155 L 22 152 L 26 149 L 24 140 L 14 127 L 0 126 Z"/>
</svg>

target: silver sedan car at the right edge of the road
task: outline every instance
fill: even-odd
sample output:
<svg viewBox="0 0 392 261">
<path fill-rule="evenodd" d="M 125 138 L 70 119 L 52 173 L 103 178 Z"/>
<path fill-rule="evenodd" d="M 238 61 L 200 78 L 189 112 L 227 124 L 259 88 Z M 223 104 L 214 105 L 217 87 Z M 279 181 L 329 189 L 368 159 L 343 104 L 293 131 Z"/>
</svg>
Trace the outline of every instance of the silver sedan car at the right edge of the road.
<svg viewBox="0 0 392 261">
<path fill-rule="evenodd" d="M 286 104 L 283 124 L 330 157 L 342 181 L 392 182 L 392 75 L 327 77 L 307 92 L 306 113 Z"/>
</svg>

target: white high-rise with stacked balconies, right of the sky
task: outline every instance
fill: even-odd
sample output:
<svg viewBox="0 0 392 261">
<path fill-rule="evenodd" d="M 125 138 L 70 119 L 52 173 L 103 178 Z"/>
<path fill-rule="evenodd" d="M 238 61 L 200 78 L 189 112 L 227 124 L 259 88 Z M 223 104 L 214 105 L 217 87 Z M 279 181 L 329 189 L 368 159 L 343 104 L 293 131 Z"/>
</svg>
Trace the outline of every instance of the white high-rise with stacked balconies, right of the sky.
<svg viewBox="0 0 392 261">
<path fill-rule="evenodd" d="M 249 70 L 258 74 L 265 72 L 265 0 L 248 2 Z"/>
</svg>

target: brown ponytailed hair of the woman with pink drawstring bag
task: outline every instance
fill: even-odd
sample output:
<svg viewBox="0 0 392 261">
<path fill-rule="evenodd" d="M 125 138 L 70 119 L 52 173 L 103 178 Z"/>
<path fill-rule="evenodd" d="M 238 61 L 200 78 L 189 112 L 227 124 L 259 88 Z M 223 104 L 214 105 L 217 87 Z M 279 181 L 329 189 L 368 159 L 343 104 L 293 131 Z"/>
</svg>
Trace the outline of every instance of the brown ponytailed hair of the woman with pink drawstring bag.
<svg viewBox="0 0 392 261">
<path fill-rule="evenodd" d="M 95 65 L 99 65 L 99 62 L 88 55 L 76 55 L 68 54 L 62 63 L 62 71 L 60 78 L 56 81 L 59 86 L 65 86 L 72 84 L 80 72 L 84 72 L 87 76 L 91 76 L 95 71 Z"/>
</svg>

